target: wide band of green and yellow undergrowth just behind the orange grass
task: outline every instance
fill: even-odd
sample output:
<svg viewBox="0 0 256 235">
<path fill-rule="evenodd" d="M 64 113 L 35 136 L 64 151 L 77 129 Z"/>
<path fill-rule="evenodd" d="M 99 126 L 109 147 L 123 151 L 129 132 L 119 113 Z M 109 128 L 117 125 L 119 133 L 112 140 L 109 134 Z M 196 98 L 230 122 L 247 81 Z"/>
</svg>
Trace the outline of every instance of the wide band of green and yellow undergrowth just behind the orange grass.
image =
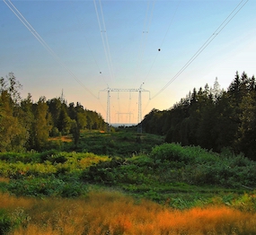
<svg viewBox="0 0 256 235">
<path fill-rule="evenodd" d="M 92 142 L 93 136 L 98 135 L 92 134 Z M 121 136 L 134 144 L 134 135 L 110 138 Z M 227 149 L 216 153 L 199 146 L 155 144 L 150 151 L 115 156 L 5 152 L 0 153 L 1 178 L 0 191 L 15 196 L 79 197 L 108 188 L 179 209 L 224 204 L 255 210 L 256 163 Z"/>
</svg>

